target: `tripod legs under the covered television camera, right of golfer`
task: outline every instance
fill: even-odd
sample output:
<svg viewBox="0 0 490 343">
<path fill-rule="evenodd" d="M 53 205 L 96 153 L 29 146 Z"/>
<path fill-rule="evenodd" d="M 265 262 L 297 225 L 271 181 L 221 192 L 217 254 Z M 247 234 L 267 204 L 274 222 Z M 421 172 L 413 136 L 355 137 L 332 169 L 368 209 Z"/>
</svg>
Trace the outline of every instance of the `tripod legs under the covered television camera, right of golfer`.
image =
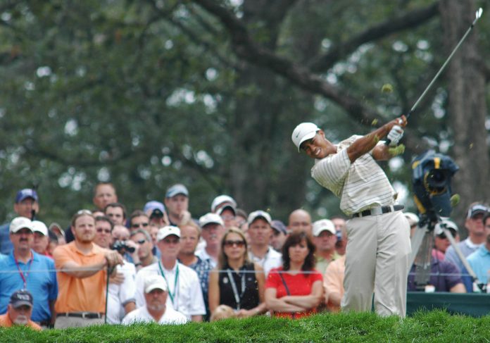
<svg viewBox="0 0 490 343">
<path fill-rule="evenodd" d="M 431 273 L 431 260 L 432 260 L 432 248 L 434 247 L 434 227 L 439 223 L 444 234 L 448 237 L 451 246 L 460 258 L 463 266 L 465 266 L 468 274 L 471 277 L 472 283 L 474 285 L 474 291 L 479 289 L 479 291 L 484 292 L 485 286 L 477 278 L 477 275 L 473 271 L 468 263 L 466 257 L 463 255 L 458 247 L 458 244 L 454 240 L 453 235 L 446 227 L 439 216 L 427 216 L 422 215 L 420 218 L 420 223 L 417 225 L 413 237 L 410 239 L 412 244 L 412 254 L 410 254 L 410 266 L 415 263 L 415 285 L 417 290 L 425 290 L 425 287 L 429 285 L 430 273 Z M 475 285 L 477 287 L 475 287 Z"/>
</svg>

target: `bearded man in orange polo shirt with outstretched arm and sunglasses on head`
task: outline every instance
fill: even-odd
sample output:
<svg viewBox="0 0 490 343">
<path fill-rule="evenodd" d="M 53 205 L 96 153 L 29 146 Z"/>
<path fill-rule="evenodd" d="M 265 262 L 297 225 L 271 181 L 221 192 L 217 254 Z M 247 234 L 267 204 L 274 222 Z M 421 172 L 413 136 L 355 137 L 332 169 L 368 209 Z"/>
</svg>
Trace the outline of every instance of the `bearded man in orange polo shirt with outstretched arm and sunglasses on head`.
<svg viewBox="0 0 490 343">
<path fill-rule="evenodd" d="M 58 271 L 58 301 L 55 328 L 102 324 L 106 306 L 106 267 L 122 264 L 118 251 L 94 243 L 92 212 L 78 211 L 71 227 L 75 240 L 53 252 Z"/>
</svg>

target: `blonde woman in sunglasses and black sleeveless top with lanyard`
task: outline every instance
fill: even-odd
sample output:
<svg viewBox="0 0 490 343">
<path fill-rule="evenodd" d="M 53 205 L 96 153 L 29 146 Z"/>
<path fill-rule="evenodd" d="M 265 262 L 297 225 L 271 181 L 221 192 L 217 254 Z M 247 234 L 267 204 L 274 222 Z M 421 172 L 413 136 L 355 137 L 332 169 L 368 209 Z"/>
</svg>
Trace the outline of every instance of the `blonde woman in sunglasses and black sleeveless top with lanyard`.
<svg viewBox="0 0 490 343">
<path fill-rule="evenodd" d="M 220 305 L 233 308 L 239 318 L 264 313 L 264 284 L 263 269 L 249 262 L 244 233 L 230 228 L 221 240 L 218 267 L 209 275 L 211 314 Z"/>
</svg>

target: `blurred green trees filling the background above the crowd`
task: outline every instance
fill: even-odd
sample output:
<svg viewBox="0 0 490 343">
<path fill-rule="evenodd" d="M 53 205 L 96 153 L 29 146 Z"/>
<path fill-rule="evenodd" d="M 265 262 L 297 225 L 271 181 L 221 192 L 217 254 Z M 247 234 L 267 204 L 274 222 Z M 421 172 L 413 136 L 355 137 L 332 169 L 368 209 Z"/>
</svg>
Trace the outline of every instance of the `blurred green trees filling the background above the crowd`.
<svg viewBox="0 0 490 343">
<path fill-rule="evenodd" d="M 450 2 L 1 1 L 0 218 L 11 218 L 15 192 L 34 184 L 41 217 L 66 224 L 92 207 L 99 181 L 113 182 L 130 209 L 182 182 L 194 216 L 221 193 L 282 220 L 299 207 L 314 218 L 338 214 L 338 200 L 310 179 L 312 163 L 295 151 L 291 131 L 313 120 L 338 141 L 408 112 L 482 1 L 464 0 L 468 13 L 445 12 Z M 488 156 L 490 73 L 481 56 L 490 39 L 482 19 L 461 50 L 479 49 L 465 61 L 484 79 L 475 86 L 483 116 L 478 132 L 465 129 L 475 135 L 459 138 L 467 147 L 460 156 L 477 154 L 474 140 Z M 408 193 L 410 160 L 422 149 L 458 161 L 454 118 L 472 113 L 447 115 L 456 82 L 447 80 L 410 118 L 406 154 L 386 163 Z M 381 92 L 386 83 L 394 92 Z M 474 196 L 465 195 L 464 206 L 489 196 L 481 178 L 466 183 L 489 167 L 488 158 L 473 161 L 477 168 L 462 166 L 465 183 L 456 180 L 456 190 Z"/>
</svg>

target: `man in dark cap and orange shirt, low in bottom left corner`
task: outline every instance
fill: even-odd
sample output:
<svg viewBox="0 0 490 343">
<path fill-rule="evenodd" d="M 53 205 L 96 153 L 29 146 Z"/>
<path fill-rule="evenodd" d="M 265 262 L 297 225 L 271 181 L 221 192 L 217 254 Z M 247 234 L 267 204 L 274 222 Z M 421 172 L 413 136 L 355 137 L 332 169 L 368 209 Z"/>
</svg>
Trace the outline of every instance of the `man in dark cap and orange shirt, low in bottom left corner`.
<svg viewBox="0 0 490 343">
<path fill-rule="evenodd" d="M 0 327 L 10 328 L 13 325 L 25 325 L 34 330 L 41 330 L 39 325 L 30 320 L 32 304 L 32 294 L 26 289 L 13 292 L 7 313 L 0 316 Z"/>
</svg>

